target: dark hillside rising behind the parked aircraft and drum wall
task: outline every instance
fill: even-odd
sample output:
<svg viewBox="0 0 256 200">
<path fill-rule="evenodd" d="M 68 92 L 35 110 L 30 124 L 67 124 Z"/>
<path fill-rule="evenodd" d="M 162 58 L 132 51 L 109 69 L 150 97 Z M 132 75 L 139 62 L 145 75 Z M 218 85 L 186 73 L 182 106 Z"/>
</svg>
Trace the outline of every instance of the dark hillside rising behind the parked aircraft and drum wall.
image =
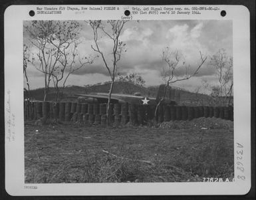
<svg viewBox="0 0 256 200">
<path fill-rule="evenodd" d="M 110 88 L 110 83 L 107 84 L 96 84 L 92 86 L 68 86 L 64 88 L 63 92 L 63 100 L 76 100 L 74 94 L 88 94 L 90 92 L 108 92 Z M 181 90 L 178 88 L 172 88 L 175 94 L 175 100 L 179 104 L 187 105 L 187 106 L 195 106 L 195 105 L 209 105 L 212 102 L 210 96 L 206 94 L 195 94 L 193 92 L 189 92 L 186 90 Z M 148 88 L 144 86 L 138 86 L 136 84 L 132 84 L 130 82 L 115 82 L 113 93 L 120 94 L 134 94 L 135 92 L 140 92 L 142 96 L 150 96 L 156 97 L 158 92 L 158 86 L 150 86 Z M 43 88 L 39 88 L 36 90 L 31 90 L 31 95 L 35 100 L 43 100 Z M 25 98 L 27 98 L 26 94 L 24 94 Z M 55 99 L 55 90 L 54 88 L 49 89 L 49 95 L 47 100 Z"/>
</svg>

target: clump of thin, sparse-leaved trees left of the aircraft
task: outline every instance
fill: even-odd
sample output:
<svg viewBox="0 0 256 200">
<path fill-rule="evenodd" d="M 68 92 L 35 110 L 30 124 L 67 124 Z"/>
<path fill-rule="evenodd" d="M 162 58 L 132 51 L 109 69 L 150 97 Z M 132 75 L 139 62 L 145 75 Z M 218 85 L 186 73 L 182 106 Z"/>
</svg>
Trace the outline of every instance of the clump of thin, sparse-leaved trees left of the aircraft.
<svg viewBox="0 0 256 200">
<path fill-rule="evenodd" d="M 80 24 L 77 21 L 31 21 L 25 23 L 24 31 L 29 33 L 33 47 L 29 55 L 31 63 L 45 78 L 44 100 L 47 100 L 51 82 L 56 90 L 55 100 L 59 100 L 60 82 L 63 89 L 70 74 L 93 62 L 90 56 L 78 52 Z M 23 49 L 23 66 L 27 65 L 24 61 L 29 61 L 26 60 L 28 52 Z"/>
</svg>

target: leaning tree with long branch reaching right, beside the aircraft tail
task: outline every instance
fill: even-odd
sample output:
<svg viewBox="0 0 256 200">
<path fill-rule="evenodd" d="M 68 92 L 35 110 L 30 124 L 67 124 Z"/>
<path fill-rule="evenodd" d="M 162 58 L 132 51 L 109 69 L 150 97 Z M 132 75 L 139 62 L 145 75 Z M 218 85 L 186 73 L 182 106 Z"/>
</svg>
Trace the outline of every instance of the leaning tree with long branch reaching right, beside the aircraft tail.
<svg viewBox="0 0 256 200">
<path fill-rule="evenodd" d="M 199 58 L 199 64 L 197 68 L 193 72 L 189 72 L 190 65 L 186 65 L 185 60 L 183 59 L 182 54 L 178 50 L 171 50 L 169 47 L 166 47 L 162 51 L 162 60 L 166 65 L 162 68 L 161 76 L 162 79 L 166 82 L 166 86 L 164 88 L 164 95 L 159 100 L 156 110 L 155 110 L 155 118 L 157 116 L 158 107 L 160 104 L 164 101 L 166 97 L 166 90 L 170 84 L 173 84 L 175 82 L 180 82 L 182 80 L 188 80 L 192 78 L 192 76 L 195 76 L 195 74 L 198 73 L 199 69 L 207 59 L 207 56 L 204 56 L 201 54 L 201 51 L 199 51 L 200 58 Z M 184 70 L 184 76 L 180 77 L 178 76 L 178 71 Z"/>
</svg>

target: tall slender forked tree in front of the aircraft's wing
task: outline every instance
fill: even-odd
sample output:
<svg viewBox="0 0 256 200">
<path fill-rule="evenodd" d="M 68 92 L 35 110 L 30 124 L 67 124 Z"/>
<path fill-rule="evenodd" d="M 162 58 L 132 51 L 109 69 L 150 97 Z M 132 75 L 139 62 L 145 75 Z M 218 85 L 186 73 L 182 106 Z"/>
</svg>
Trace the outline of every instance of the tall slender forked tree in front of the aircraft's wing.
<svg viewBox="0 0 256 200">
<path fill-rule="evenodd" d="M 110 84 L 110 90 L 108 92 L 108 106 L 107 106 L 107 120 L 109 124 L 109 116 L 110 116 L 110 100 L 111 100 L 111 94 L 116 78 L 116 73 L 117 73 L 117 68 L 118 68 L 118 62 L 121 59 L 122 52 L 126 52 L 125 46 L 126 44 L 120 41 L 120 34 L 122 32 L 122 29 L 124 28 L 124 24 L 127 21 L 124 20 L 108 20 L 106 22 L 106 25 L 102 23 L 102 21 L 97 20 L 97 21 L 89 21 L 88 24 L 92 28 L 93 35 L 94 35 L 94 45 L 92 45 L 92 49 L 97 52 L 104 63 L 104 66 L 106 67 L 106 70 L 108 71 L 108 74 L 111 79 L 111 84 Z M 110 41 L 112 41 L 112 59 L 111 62 L 107 61 L 106 55 L 100 49 L 99 46 L 99 35 L 101 32 L 104 36 L 106 36 Z"/>
</svg>

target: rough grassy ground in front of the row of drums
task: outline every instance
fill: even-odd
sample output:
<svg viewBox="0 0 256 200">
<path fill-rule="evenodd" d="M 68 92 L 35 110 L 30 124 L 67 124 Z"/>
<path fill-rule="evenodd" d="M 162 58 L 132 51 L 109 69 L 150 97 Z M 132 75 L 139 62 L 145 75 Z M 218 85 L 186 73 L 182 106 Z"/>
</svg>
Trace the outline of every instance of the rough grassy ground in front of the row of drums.
<svg viewBox="0 0 256 200">
<path fill-rule="evenodd" d="M 26 183 L 231 181 L 233 170 L 231 121 L 198 118 L 158 128 L 25 124 Z"/>
</svg>

